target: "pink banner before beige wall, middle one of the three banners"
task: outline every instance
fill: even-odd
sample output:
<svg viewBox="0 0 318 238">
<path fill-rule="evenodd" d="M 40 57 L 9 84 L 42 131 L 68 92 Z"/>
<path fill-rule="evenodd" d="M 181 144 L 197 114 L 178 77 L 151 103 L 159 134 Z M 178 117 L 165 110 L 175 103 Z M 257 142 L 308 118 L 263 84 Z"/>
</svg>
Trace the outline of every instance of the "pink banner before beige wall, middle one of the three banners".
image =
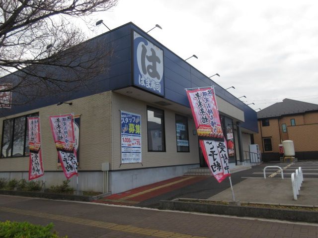
<svg viewBox="0 0 318 238">
<path fill-rule="evenodd" d="M 67 179 L 78 174 L 75 148 L 74 116 L 50 116 L 51 130 L 64 175 Z"/>
</svg>

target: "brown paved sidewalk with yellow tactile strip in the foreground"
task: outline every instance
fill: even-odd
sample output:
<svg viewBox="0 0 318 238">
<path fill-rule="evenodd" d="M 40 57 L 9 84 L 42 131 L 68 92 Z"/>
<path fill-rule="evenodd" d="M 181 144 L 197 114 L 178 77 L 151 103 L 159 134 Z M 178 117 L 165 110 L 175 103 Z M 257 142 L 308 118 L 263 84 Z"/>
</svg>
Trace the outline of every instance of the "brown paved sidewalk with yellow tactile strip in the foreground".
<svg viewBox="0 0 318 238">
<path fill-rule="evenodd" d="M 0 221 L 53 222 L 69 238 L 317 238 L 317 224 L 0 195 Z"/>
</svg>

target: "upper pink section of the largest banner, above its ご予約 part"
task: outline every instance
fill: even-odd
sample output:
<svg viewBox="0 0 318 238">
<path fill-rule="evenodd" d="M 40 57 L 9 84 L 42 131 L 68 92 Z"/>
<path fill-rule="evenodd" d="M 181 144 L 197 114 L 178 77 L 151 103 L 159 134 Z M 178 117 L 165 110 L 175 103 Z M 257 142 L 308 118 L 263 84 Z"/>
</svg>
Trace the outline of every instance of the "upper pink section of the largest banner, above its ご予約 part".
<svg viewBox="0 0 318 238">
<path fill-rule="evenodd" d="M 197 134 L 200 139 L 223 140 L 214 88 L 186 90 Z"/>
</svg>

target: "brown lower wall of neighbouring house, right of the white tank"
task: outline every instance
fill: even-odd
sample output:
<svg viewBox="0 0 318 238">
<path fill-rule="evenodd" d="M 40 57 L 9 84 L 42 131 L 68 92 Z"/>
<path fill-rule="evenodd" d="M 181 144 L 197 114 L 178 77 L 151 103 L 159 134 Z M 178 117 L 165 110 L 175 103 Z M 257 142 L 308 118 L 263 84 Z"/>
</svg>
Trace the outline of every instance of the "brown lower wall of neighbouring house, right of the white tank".
<svg viewBox="0 0 318 238">
<path fill-rule="evenodd" d="M 318 151 L 318 123 L 288 126 L 289 138 L 294 141 L 295 151 Z"/>
</svg>

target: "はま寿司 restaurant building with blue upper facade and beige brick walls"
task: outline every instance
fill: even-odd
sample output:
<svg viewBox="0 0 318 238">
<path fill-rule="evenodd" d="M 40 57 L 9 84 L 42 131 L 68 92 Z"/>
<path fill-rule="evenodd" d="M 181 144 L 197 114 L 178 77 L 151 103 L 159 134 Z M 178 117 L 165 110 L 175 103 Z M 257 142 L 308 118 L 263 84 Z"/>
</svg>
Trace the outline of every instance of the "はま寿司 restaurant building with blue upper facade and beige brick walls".
<svg viewBox="0 0 318 238">
<path fill-rule="evenodd" d="M 133 23 L 89 41 L 113 49 L 109 70 L 93 79 L 95 90 L 68 93 L 62 104 L 55 95 L 0 109 L 0 178 L 28 178 L 26 118 L 38 116 L 46 186 L 61 184 L 65 177 L 48 116 L 69 113 L 76 118 L 80 190 L 117 193 L 203 167 L 185 89 L 210 86 L 230 165 L 244 162 L 251 135 L 258 132 L 254 110 Z M 76 185 L 75 177 L 71 183 Z"/>
</svg>

